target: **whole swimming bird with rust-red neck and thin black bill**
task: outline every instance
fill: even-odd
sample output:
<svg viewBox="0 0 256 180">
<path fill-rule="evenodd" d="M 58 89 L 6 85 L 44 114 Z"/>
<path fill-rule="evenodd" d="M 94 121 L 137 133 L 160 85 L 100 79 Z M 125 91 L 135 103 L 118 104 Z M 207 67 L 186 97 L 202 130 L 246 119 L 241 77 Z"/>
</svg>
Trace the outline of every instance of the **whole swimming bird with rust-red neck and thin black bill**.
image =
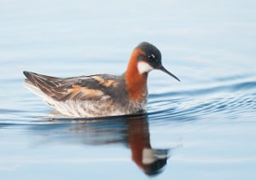
<svg viewBox="0 0 256 180">
<path fill-rule="evenodd" d="M 24 71 L 25 86 L 67 117 L 91 118 L 143 112 L 148 102 L 148 73 L 163 67 L 158 48 L 143 42 L 133 49 L 125 73 L 56 78 Z"/>
</svg>

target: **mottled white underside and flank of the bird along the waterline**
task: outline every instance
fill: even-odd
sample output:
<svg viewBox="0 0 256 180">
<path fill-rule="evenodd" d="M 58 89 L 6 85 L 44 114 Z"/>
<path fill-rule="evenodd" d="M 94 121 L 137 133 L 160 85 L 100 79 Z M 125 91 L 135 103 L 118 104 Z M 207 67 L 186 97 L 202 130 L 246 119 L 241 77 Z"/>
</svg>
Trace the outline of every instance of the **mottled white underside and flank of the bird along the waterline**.
<svg viewBox="0 0 256 180">
<path fill-rule="evenodd" d="M 25 86 L 28 90 L 40 96 L 50 107 L 54 107 L 56 111 L 69 117 L 116 116 L 136 113 L 138 110 L 145 108 L 145 103 L 130 103 L 127 107 L 120 107 L 111 101 L 110 96 L 102 96 L 102 100 L 100 101 L 67 100 L 65 102 L 58 102 L 46 96 L 44 92 L 32 84 L 25 83 Z"/>
</svg>

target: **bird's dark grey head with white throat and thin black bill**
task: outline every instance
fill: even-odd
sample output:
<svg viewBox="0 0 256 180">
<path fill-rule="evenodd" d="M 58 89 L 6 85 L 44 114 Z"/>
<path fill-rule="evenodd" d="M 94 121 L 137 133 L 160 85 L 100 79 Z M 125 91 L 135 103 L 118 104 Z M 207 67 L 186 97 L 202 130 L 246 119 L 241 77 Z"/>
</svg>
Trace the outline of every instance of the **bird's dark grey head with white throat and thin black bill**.
<svg viewBox="0 0 256 180">
<path fill-rule="evenodd" d="M 159 69 L 180 81 L 176 76 L 174 76 L 172 73 L 167 71 L 165 67 L 163 67 L 160 50 L 157 49 L 153 44 L 143 42 L 138 44 L 135 50 L 140 51 L 137 53 L 137 68 L 139 73 L 148 73 L 153 69 Z"/>
</svg>

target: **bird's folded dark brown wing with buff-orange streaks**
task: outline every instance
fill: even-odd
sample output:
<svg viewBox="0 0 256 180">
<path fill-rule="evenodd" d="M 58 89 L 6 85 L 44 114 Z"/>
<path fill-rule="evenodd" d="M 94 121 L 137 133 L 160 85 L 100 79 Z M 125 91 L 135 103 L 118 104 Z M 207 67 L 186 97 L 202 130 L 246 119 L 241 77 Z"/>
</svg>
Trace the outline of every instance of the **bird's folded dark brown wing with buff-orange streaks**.
<svg viewBox="0 0 256 180">
<path fill-rule="evenodd" d="M 38 73 L 24 72 L 26 84 L 41 90 L 46 96 L 56 101 L 67 100 L 101 100 L 109 97 L 119 85 L 116 76 L 91 75 L 74 78 L 55 78 Z"/>
</svg>

